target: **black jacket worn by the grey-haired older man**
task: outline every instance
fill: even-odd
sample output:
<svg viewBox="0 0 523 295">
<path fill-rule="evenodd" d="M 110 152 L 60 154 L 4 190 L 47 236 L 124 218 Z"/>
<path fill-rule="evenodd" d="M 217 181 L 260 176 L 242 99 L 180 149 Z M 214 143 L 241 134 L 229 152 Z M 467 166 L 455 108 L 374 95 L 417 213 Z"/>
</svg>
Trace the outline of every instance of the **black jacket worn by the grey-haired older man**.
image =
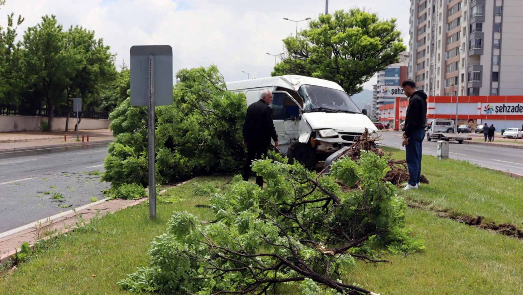
<svg viewBox="0 0 523 295">
<path fill-rule="evenodd" d="M 269 146 L 270 139 L 278 141 L 272 122 L 272 109 L 263 100 L 249 105 L 243 124 L 243 139 L 248 144 Z"/>
</svg>

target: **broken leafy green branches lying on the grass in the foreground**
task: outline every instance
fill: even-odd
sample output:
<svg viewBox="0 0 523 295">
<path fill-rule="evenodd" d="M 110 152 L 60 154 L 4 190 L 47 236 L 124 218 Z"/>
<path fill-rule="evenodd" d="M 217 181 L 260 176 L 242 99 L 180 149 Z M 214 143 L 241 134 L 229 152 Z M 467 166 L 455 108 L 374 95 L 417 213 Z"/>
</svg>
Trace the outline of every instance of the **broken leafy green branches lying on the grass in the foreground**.
<svg viewBox="0 0 523 295">
<path fill-rule="evenodd" d="M 335 162 L 329 176 L 274 157 L 253 166 L 266 190 L 236 177 L 228 193 L 211 198 L 216 220 L 175 212 L 151 245 L 150 266 L 118 284 L 203 295 L 264 294 L 301 281 L 306 294 L 374 294 L 343 282 L 355 259 L 385 262 L 369 255 L 372 245 L 423 249 L 405 228 L 404 200 L 383 180 L 387 157 L 363 151 L 358 161 Z M 360 189 L 342 192 L 336 181 Z"/>
</svg>

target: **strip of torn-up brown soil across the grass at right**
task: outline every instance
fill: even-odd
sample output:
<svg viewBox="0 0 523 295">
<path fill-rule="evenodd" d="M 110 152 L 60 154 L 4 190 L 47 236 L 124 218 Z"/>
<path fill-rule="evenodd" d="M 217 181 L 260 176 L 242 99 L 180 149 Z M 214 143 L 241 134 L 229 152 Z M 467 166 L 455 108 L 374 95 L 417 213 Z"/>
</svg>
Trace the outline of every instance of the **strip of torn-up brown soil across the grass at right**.
<svg viewBox="0 0 523 295">
<path fill-rule="evenodd" d="M 496 224 L 491 221 L 486 221 L 485 217 L 478 215 L 476 217 L 471 217 L 467 214 L 457 214 L 457 213 L 450 213 L 449 210 L 442 210 L 442 209 L 433 209 L 423 202 L 416 202 L 414 200 L 411 200 L 408 203 L 408 207 L 416 208 L 416 209 L 422 209 L 422 210 L 429 210 L 436 212 L 436 216 L 439 218 L 446 218 L 454 221 L 458 221 L 460 223 L 464 223 L 465 225 L 471 226 L 471 227 L 478 227 L 484 230 L 490 230 L 498 234 L 507 235 L 508 237 L 513 237 L 519 240 L 523 240 L 523 231 L 519 229 L 516 225 L 513 225 L 512 223 L 500 223 Z"/>
</svg>

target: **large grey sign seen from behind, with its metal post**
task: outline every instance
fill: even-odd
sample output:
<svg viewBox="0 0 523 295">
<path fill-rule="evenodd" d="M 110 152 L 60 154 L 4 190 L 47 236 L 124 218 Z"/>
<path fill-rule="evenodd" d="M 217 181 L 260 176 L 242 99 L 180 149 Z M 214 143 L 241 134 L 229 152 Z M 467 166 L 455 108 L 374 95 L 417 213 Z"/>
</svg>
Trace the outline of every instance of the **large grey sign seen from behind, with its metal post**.
<svg viewBox="0 0 523 295">
<path fill-rule="evenodd" d="M 131 47 L 131 104 L 147 106 L 149 216 L 156 218 L 155 107 L 173 103 L 173 49 L 169 45 Z"/>
</svg>

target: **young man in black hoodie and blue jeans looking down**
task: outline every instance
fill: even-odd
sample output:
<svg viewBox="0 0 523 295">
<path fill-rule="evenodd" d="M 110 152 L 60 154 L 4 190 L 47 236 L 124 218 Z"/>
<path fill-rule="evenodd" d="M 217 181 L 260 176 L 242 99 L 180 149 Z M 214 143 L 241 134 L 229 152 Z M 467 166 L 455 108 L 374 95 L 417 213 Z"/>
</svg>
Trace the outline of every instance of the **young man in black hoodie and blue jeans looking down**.
<svg viewBox="0 0 523 295">
<path fill-rule="evenodd" d="M 416 91 L 416 83 L 407 79 L 401 84 L 403 92 L 410 97 L 405 124 L 403 126 L 403 146 L 406 151 L 408 173 L 410 179 L 404 190 L 419 187 L 419 178 L 422 173 L 422 143 L 425 138 L 425 122 L 427 121 L 427 95 L 423 91 Z"/>
</svg>

